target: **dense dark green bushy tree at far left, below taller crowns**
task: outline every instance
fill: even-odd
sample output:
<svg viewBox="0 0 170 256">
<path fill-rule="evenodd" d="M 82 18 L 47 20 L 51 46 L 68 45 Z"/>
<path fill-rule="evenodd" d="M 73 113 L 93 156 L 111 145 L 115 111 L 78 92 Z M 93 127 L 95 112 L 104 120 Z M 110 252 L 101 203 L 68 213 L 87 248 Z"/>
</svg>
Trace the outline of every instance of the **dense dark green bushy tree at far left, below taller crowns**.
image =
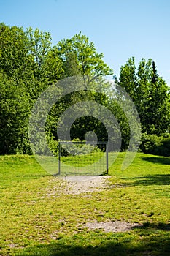
<svg viewBox="0 0 170 256">
<path fill-rule="evenodd" d="M 0 154 L 28 154 L 30 102 L 22 80 L 0 73 Z"/>
</svg>

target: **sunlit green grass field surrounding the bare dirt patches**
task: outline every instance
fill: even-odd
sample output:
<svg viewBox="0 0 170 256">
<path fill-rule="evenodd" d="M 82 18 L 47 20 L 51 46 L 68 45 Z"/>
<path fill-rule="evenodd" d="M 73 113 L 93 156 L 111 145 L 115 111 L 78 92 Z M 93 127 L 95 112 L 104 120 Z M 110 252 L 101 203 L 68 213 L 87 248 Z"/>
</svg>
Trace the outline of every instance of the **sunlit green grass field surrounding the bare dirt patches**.
<svg viewBox="0 0 170 256">
<path fill-rule="evenodd" d="M 63 181 L 34 157 L 0 157 L 0 255 L 170 255 L 170 158 L 136 154 L 121 171 L 124 156 L 109 169 L 110 188 L 86 196 L 53 193 Z M 94 220 L 140 225 L 84 227 Z"/>
</svg>

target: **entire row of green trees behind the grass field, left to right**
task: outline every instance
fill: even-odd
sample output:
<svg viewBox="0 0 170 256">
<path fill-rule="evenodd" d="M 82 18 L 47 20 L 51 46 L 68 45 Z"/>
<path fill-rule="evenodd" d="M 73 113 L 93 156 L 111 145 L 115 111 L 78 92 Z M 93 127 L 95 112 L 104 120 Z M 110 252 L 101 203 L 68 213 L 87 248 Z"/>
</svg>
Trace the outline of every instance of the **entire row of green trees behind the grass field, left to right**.
<svg viewBox="0 0 170 256">
<path fill-rule="evenodd" d="M 89 75 L 100 79 L 113 70 L 97 53 L 93 42 L 81 33 L 52 45 L 49 33 L 0 24 L 0 154 L 32 154 L 28 138 L 31 108 L 42 91 L 63 78 Z M 120 68 L 115 81 L 133 99 L 142 123 L 141 150 L 147 153 L 170 155 L 169 88 L 158 75 L 151 59 L 139 62 L 128 59 Z M 112 88 L 109 88 L 112 90 Z M 61 114 L 77 101 L 94 100 L 114 113 L 122 132 L 121 150 L 128 148 L 128 120 L 109 94 L 82 91 L 60 99 L 47 118 L 47 140 L 57 151 L 57 124 Z M 79 101 L 80 99 L 78 99 Z M 107 130 L 92 116 L 78 118 L 72 125 L 71 138 L 85 139 L 93 130 L 98 140 L 107 140 Z M 40 147 L 40 146 L 39 146 Z"/>
</svg>

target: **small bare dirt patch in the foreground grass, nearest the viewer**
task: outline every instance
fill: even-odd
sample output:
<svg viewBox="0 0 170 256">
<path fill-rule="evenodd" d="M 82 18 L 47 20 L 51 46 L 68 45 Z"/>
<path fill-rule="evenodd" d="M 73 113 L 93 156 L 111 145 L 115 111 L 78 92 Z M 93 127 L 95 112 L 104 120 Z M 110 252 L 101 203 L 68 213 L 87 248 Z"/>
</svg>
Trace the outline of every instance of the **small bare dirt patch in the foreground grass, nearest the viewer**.
<svg viewBox="0 0 170 256">
<path fill-rule="evenodd" d="M 104 232 L 125 232 L 131 230 L 133 227 L 141 227 L 139 223 L 120 222 L 115 220 L 114 222 L 87 222 L 85 227 L 88 230 L 104 230 Z"/>
</svg>

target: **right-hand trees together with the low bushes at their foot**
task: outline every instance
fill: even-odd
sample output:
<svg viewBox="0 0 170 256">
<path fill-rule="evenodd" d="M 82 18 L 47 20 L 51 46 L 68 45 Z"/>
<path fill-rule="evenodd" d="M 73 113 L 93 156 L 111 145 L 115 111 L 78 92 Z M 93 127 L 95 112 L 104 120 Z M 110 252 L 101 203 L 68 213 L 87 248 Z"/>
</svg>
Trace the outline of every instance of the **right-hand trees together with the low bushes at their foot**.
<svg viewBox="0 0 170 256">
<path fill-rule="evenodd" d="M 165 80 L 158 75 L 155 61 L 142 59 L 136 67 L 130 58 L 120 68 L 117 83 L 128 92 L 142 124 L 144 153 L 170 156 L 170 94 Z"/>
</svg>

